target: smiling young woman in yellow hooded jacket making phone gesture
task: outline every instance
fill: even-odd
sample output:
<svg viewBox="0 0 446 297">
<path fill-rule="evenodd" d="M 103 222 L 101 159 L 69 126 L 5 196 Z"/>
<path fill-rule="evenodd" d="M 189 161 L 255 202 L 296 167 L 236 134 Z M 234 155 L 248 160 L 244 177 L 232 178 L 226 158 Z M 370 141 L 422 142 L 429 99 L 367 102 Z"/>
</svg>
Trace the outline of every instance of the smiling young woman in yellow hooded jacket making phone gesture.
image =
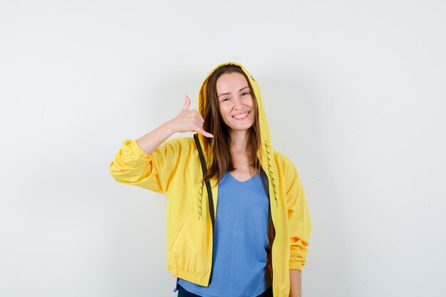
<svg viewBox="0 0 446 297">
<path fill-rule="evenodd" d="M 194 137 L 167 140 L 175 132 Z M 237 63 L 209 73 L 180 113 L 110 164 L 167 196 L 167 269 L 178 296 L 301 296 L 311 222 L 296 169 L 273 150 L 259 87 Z"/>
</svg>

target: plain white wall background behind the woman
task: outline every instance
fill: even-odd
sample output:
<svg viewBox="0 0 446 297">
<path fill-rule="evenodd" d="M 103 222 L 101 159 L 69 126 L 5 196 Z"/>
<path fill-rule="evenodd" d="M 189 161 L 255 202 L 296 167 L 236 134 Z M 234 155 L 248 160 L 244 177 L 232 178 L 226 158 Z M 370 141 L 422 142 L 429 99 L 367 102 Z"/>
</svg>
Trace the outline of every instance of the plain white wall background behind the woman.
<svg viewBox="0 0 446 297">
<path fill-rule="evenodd" d="M 108 166 L 225 61 L 306 188 L 304 296 L 446 296 L 445 1 L 270 2 L 0 1 L 0 296 L 176 296 Z"/>
</svg>

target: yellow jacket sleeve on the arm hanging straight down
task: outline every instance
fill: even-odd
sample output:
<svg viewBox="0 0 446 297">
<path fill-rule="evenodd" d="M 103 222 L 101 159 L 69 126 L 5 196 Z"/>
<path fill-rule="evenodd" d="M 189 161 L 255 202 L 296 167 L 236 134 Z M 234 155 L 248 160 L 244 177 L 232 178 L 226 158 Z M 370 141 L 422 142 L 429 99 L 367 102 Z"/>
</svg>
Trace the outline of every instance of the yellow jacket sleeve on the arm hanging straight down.
<svg viewBox="0 0 446 297">
<path fill-rule="evenodd" d="M 289 173 L 286 190 L 290 233 L 289 269 L 302 271 L 306 262 L 308 241 L 311 234 L 311 220 L 306 204 L 304 187 L 302 187 L 296 168 L 289 160 Z"/>
</svg>

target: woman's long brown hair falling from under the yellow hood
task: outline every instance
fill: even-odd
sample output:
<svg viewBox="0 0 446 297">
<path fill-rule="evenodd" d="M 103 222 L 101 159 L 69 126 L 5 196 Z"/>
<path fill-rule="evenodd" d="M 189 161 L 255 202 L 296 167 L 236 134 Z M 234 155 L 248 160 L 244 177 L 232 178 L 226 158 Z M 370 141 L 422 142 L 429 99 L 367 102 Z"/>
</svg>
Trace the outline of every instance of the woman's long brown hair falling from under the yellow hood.
<svg viewBox="0 0 446 297">
<path fill-rule="evenodd" d="M 224 65 L 217 68 L 207 80 L 206 106 L 204 107 L 204 123 L 203 129 L 210 132 L 214 137 L 204 137 L 204 148 L 211 155 L 211 165 L 208 167 L 204 179 L 210 179 L 217 176 L 220 180 L 227 171 L 235 170 L 234 160 L 231 151 L 231 137 L 229 128 L 223 122 L 219 112 L 219 101 L 217 97 L 217 79 L 225 73 L 240 73 L 247 79 L 249 90 L 254 103 L 254 124 L 249 128 L 248 145 L 251 148 L 251 162 L 254 172 L 260 172 L 260 161 L 257 157 L 257 151 L 260 149 L 260 125 L 259 125 L 259 109 L 257 105 L 256 95 L 252 89 L 251 83 L 246 73 L 236 65 Z"/>
</svg>

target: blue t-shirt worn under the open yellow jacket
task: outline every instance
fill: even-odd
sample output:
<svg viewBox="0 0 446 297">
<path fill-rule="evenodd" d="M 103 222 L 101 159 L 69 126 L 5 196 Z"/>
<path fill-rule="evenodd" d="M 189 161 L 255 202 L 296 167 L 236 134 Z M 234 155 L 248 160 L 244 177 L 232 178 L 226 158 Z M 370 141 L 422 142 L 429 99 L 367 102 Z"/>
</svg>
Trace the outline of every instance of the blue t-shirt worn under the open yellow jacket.
<svg viewBox="0 0 446 297">
<path fill-rule="evenodd" d="M 180 278 L 180 286 L 204 297 L 251 297 L 266 291 L 271 286 L 268 213 L 259 174 L 239 182 L 226 172 L 219 182 L 211 284 Z"/>
</svg>

